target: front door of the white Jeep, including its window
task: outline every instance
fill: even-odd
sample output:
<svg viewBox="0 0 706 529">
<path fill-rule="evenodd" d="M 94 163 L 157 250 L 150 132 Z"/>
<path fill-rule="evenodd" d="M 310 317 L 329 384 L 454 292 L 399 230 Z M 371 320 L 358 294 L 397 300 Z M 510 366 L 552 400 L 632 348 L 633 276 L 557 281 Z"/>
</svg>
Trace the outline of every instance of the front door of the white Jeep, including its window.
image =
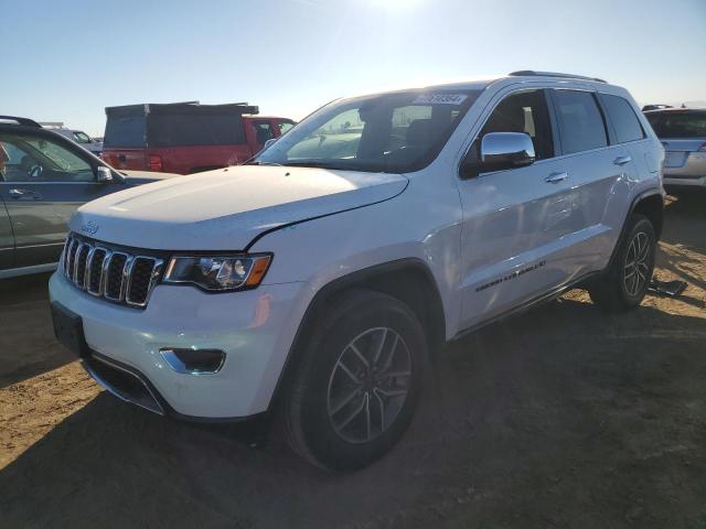
<svg viewBox="0 0 706 529">
<path fill-rule="evenodd" d="M 568 168 L 554 158 L 554 130 L 545 91 L 523 90 L 507 95 L 493 109 L 471 147 L 478 149 L 489 132 L 525 132 L 533 140 L 536 161 L 459 183 L 463 327 L 566 280 L 566 264 L 556 257 L 563 237 L 573 231 L 571 180 Z"/>
</svg>

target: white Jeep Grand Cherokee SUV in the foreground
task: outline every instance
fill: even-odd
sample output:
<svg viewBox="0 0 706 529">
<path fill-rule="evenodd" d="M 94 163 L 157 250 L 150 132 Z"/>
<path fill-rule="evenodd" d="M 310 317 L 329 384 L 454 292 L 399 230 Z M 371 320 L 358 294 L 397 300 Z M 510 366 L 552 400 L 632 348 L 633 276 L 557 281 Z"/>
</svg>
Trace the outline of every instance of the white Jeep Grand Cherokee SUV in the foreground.
<svg viewBox="0 0 706 529">
<path fill-rule="evenodd" d="M 124 400 L 276 409 L 310 461 L 361 467 L 403 435 L 445 342 L 577 285 L 640 304 L 663 156 L 600 79 L 336 100 L 249 165 L 82 206 L 51 280 L 56 335 Z"/>
</svg>

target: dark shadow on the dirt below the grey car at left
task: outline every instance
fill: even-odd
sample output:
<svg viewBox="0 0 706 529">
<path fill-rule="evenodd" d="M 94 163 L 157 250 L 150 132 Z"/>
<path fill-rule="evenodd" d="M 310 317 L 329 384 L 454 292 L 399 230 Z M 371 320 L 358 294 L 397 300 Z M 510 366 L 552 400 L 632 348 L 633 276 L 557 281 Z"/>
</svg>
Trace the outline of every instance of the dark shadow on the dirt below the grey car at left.
<svg viewBox="0 0 706 529">
<path fill-rule="evenodd" d="M 54 337 L 50 276 L 0 280 L 0 388 L 76 359 Z"/>
</svg>

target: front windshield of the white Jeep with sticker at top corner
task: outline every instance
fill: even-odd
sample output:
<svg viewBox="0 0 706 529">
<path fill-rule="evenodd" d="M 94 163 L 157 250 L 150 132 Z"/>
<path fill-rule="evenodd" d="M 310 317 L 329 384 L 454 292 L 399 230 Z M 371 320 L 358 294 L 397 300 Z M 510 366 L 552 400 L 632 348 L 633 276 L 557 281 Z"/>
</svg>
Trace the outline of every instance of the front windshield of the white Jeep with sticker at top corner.
<svg viewBox="0 0 706 529">
<path fill-rule="evenodd" d="M 415 90 L 335 101 L 253 163 L 409 172 L 434 160 L 480 90 Z"/>
</svg>

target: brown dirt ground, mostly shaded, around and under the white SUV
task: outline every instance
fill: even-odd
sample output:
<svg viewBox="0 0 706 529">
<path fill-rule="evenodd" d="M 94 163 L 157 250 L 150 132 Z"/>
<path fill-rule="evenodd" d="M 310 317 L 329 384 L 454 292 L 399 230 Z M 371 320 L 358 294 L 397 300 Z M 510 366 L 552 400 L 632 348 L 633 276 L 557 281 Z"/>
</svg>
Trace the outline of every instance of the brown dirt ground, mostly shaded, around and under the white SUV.
<svg viewBox="0 0 706 529">
<path fill-rule="evenodd" d="M 46 277 L 0 281 L 0 527 L 706 529 L 706 197 L 668 205 L 656 276 L 688 289 L 618 317 L 574 291 L 450 345 L 345 476 L 117 401 L 54 342 Z"/>
</svg>

